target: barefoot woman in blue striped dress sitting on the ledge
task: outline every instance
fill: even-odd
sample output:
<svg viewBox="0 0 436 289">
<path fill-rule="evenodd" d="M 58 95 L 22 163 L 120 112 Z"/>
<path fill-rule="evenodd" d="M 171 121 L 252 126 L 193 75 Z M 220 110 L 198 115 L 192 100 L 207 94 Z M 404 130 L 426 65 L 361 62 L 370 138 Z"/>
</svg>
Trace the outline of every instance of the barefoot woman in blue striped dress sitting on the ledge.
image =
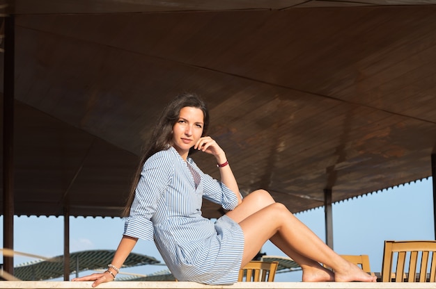
<svg viewBox="0 0 436 289">
<path fill-rule="evenodd" d="M 72 281 L 113 281 L 139 238 L 154 240 L 179 281 L 230 284 L 267 240 L 302 267 L 302 281 L 375 281 L 345 261 L 265 190 L 240 195 L 226 154 L 206 136 L 208 110 L 195 94 L 180 94 L 165 108 L 141 160 L 123 238 L 104 273 Z M 212 154 L 221 180 L 201 172 L 189 152 Z M 229 210 L 215 224 L 201 216 L 201 199 Z M 332 267 L 327 270 L 320 263 Z"/>
</svg>

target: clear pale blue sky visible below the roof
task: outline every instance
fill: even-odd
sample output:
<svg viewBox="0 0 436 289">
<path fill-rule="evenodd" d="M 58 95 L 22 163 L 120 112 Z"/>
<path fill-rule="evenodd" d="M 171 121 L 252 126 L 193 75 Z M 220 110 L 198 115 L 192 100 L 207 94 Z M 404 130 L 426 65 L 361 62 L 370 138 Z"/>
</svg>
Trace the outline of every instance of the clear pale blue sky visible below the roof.
<svg viewBox="0 0 436 289">
<path fill-rule="evenodd" d="M 324 209 L 319 208 L 297 217 L 325 240 Z M 3 217 L 0 217 L 3 226 Z M 434 240 L 432 179 L 375 192 L 342 201 L 333 206 L 334 250 L 338 254 L 368 254 L 373 272 L 380 272 L 384 240 Z M 40 256 L 63 254 L 63 217 L 15 217 L 15 250 Z M 120 218 L 72 217 L 70 251 L 116 249 L 123 233 Z M 0 232 L 3 242 L 3 230 Z M 284 254 L 267 243 L 268 255 Z M 139 240 L 134 252 L 162 261 L 153 242 Z M 15 264 L 35 261 L 15 257 Z M 150 274 L 164 266 L 146 265 L 126 268 L 124 272 Z M 80 276 L 83 276 L 81 273 Z M 301 281 L 301 273 L 277 274 L 276 281 Z"/>
</svg>

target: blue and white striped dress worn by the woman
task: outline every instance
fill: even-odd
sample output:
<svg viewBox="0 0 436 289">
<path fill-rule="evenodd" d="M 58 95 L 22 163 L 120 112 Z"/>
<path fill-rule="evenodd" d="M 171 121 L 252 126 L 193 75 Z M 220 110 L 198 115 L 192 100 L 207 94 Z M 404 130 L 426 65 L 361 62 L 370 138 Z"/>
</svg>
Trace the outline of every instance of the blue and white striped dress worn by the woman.
<svg viewBox="0 0 436 289">
<path fill-rule="evenodd" d="M 217 222 L 202 217 L 202 198 L 226 210 L 238 205 L 223 183 L 204 174 L 170 147 L 143 165 L 124 235 L 154 240 L 179 281 L 231 284 L 238 281 L 244 250 L 239 224 L 226 215 Z"/>
</svg>

